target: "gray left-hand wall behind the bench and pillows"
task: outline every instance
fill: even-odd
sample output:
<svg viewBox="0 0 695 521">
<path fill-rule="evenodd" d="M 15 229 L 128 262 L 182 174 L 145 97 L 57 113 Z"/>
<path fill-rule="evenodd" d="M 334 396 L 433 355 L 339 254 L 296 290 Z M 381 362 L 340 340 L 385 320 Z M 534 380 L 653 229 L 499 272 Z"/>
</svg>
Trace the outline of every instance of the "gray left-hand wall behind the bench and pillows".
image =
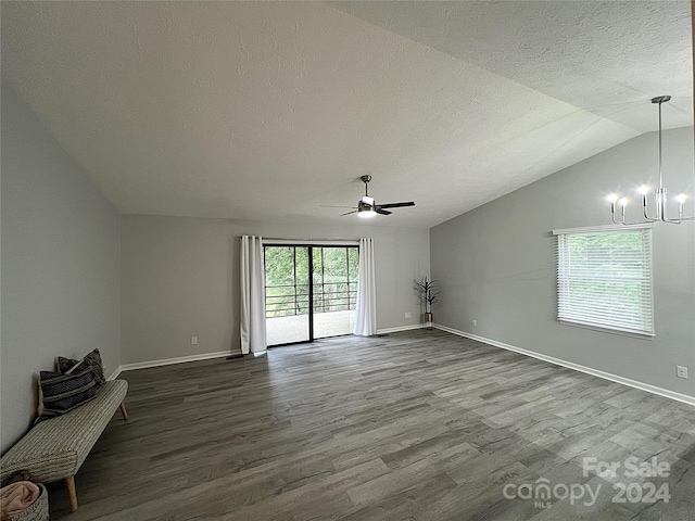
<svg viewBox="0 0 695 521">
<path fill-rule="evenodd" d="M 30 425 L 39 370 L 119 356 L 119 216 L 2 84 L 1 450 Z"/>
</svg>

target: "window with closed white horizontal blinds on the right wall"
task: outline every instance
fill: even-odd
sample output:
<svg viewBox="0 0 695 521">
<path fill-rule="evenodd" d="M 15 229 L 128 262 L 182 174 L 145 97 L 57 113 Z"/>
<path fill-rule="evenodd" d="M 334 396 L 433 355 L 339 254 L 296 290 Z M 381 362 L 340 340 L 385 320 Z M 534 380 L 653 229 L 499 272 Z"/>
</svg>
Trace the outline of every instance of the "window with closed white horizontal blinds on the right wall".
<svg viewBox="0 0 695 521">
<path fill-rule="evenodd" d="M 652 227 L 555 230 L 557 319 L 654 336 Z"/>
</svg>

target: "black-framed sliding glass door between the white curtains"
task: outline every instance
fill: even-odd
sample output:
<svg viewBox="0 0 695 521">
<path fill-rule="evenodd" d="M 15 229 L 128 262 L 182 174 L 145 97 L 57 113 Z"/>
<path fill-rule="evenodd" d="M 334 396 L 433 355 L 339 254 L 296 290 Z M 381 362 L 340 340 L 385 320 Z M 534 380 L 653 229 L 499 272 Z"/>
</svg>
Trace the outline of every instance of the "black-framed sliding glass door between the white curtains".
<svg viewBox="0 0 695 521">
<path fill-rule="evenodd" d="M 352 332 L 357 246 L 266 245 L 264 250 L 268 345 Z"/>
</svg>

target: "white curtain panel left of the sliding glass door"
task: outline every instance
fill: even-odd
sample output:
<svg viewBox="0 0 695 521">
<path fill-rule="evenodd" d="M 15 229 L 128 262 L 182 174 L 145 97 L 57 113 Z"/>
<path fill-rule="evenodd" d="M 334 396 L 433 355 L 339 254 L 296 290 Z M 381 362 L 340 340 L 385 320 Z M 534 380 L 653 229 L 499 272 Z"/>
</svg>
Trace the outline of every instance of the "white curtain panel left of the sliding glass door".
<svg viewBox="0 0 695 521">
<path fill-rule="evenodd" d="M 241 353 L 263 353 L 265 333 L 265 269 L 261 237 L 241 237 Z"/>
</svg>

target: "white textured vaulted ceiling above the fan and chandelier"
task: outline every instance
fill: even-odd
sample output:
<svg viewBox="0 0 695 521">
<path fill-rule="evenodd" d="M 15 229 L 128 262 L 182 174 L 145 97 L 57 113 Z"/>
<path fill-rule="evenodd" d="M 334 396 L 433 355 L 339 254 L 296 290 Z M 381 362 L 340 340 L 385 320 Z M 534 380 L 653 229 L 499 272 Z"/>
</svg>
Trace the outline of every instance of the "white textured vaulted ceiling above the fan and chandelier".
<svg viewBox="0 0 695 521">
<path fill-rule="evenodd" d="M 692 125 L 690 2 L 7 2 L 2 69 L 122 213 L 430 227 Z"/>
</svg>

